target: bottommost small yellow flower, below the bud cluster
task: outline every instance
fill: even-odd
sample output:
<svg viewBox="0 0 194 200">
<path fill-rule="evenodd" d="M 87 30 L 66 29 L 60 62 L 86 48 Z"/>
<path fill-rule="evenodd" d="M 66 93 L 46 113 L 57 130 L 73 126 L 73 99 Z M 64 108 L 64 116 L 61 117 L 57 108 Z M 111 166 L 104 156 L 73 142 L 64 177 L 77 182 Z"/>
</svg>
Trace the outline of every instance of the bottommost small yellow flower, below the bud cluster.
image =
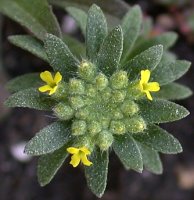
<svg viewBox="0 0 194 200">
<path fill-rule="evenodd" d="M 86 166 L 92 165 L 92 162 L 90 162 L 87 158 L 87 155 L 90 155 L 91 152 L 86 147 L 81 147 L 81 148 L 69 147 L 67 148 L 67 152 L 73 154 L 71 156 L 71 162 L 70 162 L 70 164 L 73 167 L 77 167 L 80 161 Z"/>
</svg>

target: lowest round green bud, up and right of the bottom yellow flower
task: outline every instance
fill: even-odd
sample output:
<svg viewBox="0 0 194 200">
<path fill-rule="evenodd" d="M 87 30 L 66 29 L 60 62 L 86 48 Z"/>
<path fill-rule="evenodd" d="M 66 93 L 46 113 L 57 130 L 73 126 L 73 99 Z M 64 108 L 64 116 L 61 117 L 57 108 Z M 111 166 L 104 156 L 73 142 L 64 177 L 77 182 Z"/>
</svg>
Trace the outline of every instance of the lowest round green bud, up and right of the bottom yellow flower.
<svg viewBox="0 0 194 200">
<path fill-rule="evenodd" d="M 97 145 L 99 146 L 100 150 L 106 151 L 113 143 L 113 136 L 112 133 L 109 131 L 101 131 L 97 137 Z"/>
</svg>

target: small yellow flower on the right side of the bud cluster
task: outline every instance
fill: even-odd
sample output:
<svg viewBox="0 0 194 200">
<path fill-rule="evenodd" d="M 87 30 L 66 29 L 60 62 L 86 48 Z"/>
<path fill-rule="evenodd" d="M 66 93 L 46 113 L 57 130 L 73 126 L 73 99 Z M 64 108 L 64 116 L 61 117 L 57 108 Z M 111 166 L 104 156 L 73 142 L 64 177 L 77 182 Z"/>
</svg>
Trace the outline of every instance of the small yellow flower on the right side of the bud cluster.
<svg viewBox="0 0 194 200">
<path fill-rule="evenodd" d="M 139 81 L 140 90 L 144 93 L 146 93 L 147 98 L 149 100 L 153 100 L 150 92 L 157 92 L 160 90 L 160 85 L 158 82 L 150 82 L 148 83 L 150 79 L 150 70 L 141 70 L 141 80 Z"/>
</svg>

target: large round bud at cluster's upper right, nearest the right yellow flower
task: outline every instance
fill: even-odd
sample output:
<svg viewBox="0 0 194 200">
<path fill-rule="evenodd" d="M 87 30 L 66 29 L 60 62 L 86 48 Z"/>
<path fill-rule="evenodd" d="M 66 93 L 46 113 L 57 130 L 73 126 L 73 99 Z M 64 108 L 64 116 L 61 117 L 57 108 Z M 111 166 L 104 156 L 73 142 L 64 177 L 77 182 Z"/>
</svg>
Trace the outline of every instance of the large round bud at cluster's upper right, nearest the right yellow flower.
<svg viewBox="0 0 194 200">
<path fill-rule="evenodd" d="M 128 85 L 128 76 L 125 71 L 118 71 L 114 73 L 110 79 L 111 87 L 113 89 L 123 89 Z"/>
</svg>

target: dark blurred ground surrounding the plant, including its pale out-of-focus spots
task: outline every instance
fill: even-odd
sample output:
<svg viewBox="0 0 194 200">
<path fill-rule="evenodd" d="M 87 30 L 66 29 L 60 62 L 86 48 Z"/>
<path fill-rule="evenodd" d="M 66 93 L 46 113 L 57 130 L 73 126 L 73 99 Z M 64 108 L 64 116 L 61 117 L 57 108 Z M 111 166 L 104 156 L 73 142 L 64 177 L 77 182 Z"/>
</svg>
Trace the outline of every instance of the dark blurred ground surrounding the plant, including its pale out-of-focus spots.
<svg viewBox="0 0 194 200">
<path fill-rule="evenodd" d="M 179 59 L 193 63 L 190 71 L 179 82 L 194 90 L 194 1 L 125 2 L 130 5 L 139 4 L 144 17 L 153 18 L 151 35 L 167 30 L 178 33 L 179 39 L 171 51 L 176 53 Z M 128 9 L 125 2 L 116 6 L 105 3 L 103 9 L 112 8 L 112 14 L 121 17 Z M 54 7 L 54 13 L 63 32 L 83 41 L 76 23 L 64 10 Z M 54 119 L 49 113 L 19 108 L 10 110 L 3 106 L 3 101 L 9 95 L 5 89 L 8 80 L 25 73 L 48 69 L 46 63 L 8 42 L 9 35 L 22 33 L 26 33 L 26 30 L 0 15 L 0 199 L 95 200 L 97 198 L 87 188 L 81 167 L 74 169 L 66 162 L 53 181 L 41 188 L 36 177 L 37 159 L 23 154 L 26 141 Z M 183 153 L 161 155 L 164 166 L 162 175 L 153 175 L 147 171 L 142 174 L 125 171 L 118 158 L 112 154 L 108 186 L 102 200 L 194 199 L 194 97 L 178 103 L 185 106 L 191 115 L 163 127 L 179 139 Z"/>
</svg>

